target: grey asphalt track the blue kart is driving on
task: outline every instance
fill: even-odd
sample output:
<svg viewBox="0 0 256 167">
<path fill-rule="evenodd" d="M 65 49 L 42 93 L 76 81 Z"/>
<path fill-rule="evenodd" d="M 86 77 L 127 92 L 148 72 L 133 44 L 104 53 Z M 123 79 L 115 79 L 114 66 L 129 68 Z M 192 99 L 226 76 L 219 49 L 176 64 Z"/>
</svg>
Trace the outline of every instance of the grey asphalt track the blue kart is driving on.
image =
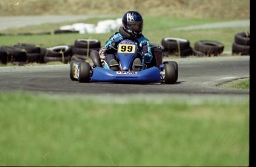
<svg viewBox="0 0 256 167">
<path fill-rule="evenodd" d="M 220 88 L 219 83 L 249 78 L 249 56 L 177 58 L 175 84 L 79 83 L 69 78 L 69 64 L 0 67 L 0 92 L 32 91 L 83 95 L 248 95 L 248 89 Z"/>
</svg>

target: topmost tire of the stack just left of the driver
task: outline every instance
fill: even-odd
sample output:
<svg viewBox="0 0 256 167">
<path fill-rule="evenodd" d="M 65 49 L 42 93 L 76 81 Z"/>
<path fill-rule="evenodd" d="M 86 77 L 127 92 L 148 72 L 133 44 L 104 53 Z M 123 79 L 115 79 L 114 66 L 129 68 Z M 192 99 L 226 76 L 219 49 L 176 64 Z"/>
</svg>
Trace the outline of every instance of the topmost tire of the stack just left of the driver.
<svg viewBox="0 0 256 167">
<path fill-rule="evenodd" d="M 76 39 L 75 47 L 79 48 L 100 48 L 100 41 L 97 39 Z"/>
</svg>

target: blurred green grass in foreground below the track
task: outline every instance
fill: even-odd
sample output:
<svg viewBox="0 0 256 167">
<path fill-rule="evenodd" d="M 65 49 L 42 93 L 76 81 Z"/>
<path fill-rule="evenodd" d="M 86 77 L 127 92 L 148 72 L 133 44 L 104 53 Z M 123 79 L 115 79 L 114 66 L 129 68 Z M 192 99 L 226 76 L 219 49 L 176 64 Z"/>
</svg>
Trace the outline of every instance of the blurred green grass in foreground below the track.
<svg viewBox="0 0 256 167">
<path fill-rule="evenodd" d="M 0 93 L 1 166 L 249 166 L 249 100 L 112 98 Z"/>
</svg>

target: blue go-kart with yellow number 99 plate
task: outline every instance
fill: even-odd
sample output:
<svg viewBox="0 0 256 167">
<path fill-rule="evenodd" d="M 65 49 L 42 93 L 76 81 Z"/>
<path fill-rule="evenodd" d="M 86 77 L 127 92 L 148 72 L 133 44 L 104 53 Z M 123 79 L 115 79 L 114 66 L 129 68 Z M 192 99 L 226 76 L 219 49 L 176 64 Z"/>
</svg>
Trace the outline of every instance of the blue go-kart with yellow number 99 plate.
<svg viewBox="0 0 256 167">
<path fill-rule="evenodd" d="M 178 78 L 176 61 L 164 61 L 163 52 L 158 46 L 152 46 L 153 60 L 146 64 L 142 61 L 140 70 L 134 71 L 133 62 L 141 54 L 142 47 L 136 38 L 123 38 L 116 47 L 116 59 L 119 70 L 105 68 L 99 52 L 91 51 L 93 64 L 86 61 L 70 62 L 70 79 L 79 82 L 110 82 L 110 83 L 165 83 L 174 84 Z M 160 53 L 160 54 L 159 54 Z"/>
</svg>

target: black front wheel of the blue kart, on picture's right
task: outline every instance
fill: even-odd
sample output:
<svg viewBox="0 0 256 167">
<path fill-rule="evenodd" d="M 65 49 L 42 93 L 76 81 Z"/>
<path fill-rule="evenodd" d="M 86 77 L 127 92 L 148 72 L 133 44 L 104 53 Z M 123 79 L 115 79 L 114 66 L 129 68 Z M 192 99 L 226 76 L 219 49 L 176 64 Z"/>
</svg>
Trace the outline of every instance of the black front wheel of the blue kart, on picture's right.
<svg viewBox="0 0 256 167">
<path fill-rule="evenodd" d="M 164 64 L 163 70 L 165 72 L 165 78 L 163 83 L 174 84 L 177 81 L 176 69 L 174 64 Z"/>
</svg>

